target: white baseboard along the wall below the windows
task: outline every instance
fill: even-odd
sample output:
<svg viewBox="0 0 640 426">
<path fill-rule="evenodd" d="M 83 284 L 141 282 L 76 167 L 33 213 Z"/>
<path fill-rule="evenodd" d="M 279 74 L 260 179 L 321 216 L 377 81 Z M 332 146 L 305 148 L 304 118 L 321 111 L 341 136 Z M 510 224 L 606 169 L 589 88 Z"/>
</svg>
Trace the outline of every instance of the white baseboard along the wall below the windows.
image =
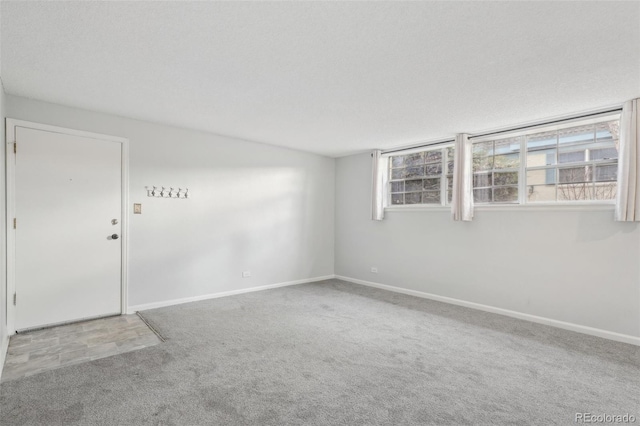
<svg viewBox="0 0 640 426">
<path fill-rule="evenodd" d="M 423 299 L 435 300 L 437 302 L 444 302 L 452 305 L 463 306 L 466 308 L 476 309 L 479 311 L 490 312 L 498 315 L 504 315 L 511 318 L 517 318 L 525 321 L 535 322 L 538 324 L 548 325 L 551 327 L 561 328 L 564 330 L 575 331 L 577 333 L 588 334 L 591 336 L 602 337 L 604 339 L 615 340 L 617 342 L 629 343 L 631 345 L 640 346 L 640 337 L 635 337 L 628 334 L 616 333 L 614 331 L 607 331 L 600 328 L 588 327 L 586 325 L 554 320 L 551 318 L 540 317 L 537 315 L 525 314 L 523 312 L 497 308 L 495 306 L 483 305 L 481 303 L 468 302 L 466 300 L 455 299 L 453 297 L 438 296 L 437 294 L 425 293 L 418 290 L 409 290 L 402 287 L 394 287 L 387 284 L 380 284 L 372 281 L 360 280 L 358 278 L 351 278 L 351 277 L 346 277 L 342 275 L 336 275 L 335 278 L 338 280 L 347 281 L 354 284 L 360 284 L 367 287 L 375 287 L 382 290 L 392 291 L 394 293 L 402 293 L 402 294 L 407 294 L 409 296 L 420 297 Z"/>
</svg>

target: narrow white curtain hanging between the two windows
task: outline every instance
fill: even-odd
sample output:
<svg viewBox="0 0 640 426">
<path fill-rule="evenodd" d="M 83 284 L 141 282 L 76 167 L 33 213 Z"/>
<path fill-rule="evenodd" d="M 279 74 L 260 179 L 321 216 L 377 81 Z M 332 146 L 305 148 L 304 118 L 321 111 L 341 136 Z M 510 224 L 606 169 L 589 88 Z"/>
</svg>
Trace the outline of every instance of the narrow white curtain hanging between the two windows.
<svg viewBox="0 0 640 426">
<path fill-rule="evenodd" d="M 453 161 L 453 196 L 451 213 L 453 220 L 473 219 L 473 153 L 468 135 L 456 135 Z"/>
</svg>

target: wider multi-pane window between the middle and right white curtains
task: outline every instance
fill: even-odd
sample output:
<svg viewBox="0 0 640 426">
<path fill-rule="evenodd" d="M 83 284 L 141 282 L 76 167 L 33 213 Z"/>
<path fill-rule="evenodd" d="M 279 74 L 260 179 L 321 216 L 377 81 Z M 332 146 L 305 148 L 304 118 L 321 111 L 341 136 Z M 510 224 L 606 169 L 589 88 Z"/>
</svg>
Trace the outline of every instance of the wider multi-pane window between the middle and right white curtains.
<svg viewBox="0 0 640 426">
<path fill-rule="evenodd" d="M 618 119 L 608 115 L 474 141 L 474 203 L 614 199 Z"/>
</svg>

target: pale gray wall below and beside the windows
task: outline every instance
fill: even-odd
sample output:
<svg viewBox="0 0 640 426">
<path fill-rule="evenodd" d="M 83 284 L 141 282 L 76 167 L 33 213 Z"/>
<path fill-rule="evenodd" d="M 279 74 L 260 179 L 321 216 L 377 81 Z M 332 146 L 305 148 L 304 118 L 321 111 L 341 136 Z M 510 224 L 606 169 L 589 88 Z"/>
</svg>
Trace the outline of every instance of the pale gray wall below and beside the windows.
<svg viewBox="0 0 640 426">
<path fill-rule="evenodd" d="M 369 154 L 336 162 L 336 275 L 640 336 L 640 226 L 606 210 L 388 211 Z M 370 272 L 376 266 L 378 273 Z"/>
</svg>

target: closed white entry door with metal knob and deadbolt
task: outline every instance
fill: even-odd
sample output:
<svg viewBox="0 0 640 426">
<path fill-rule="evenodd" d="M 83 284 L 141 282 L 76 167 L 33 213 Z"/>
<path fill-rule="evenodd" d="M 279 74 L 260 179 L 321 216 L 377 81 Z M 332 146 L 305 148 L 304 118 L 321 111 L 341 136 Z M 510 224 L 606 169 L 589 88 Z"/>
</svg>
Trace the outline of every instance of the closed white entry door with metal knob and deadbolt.
<svg viewBox="0 0 640 426">
<path fill-rule="evenodd" d="M 16 330 L 121 313 L 122 145 L 15 129 Z"/>
</svg>

